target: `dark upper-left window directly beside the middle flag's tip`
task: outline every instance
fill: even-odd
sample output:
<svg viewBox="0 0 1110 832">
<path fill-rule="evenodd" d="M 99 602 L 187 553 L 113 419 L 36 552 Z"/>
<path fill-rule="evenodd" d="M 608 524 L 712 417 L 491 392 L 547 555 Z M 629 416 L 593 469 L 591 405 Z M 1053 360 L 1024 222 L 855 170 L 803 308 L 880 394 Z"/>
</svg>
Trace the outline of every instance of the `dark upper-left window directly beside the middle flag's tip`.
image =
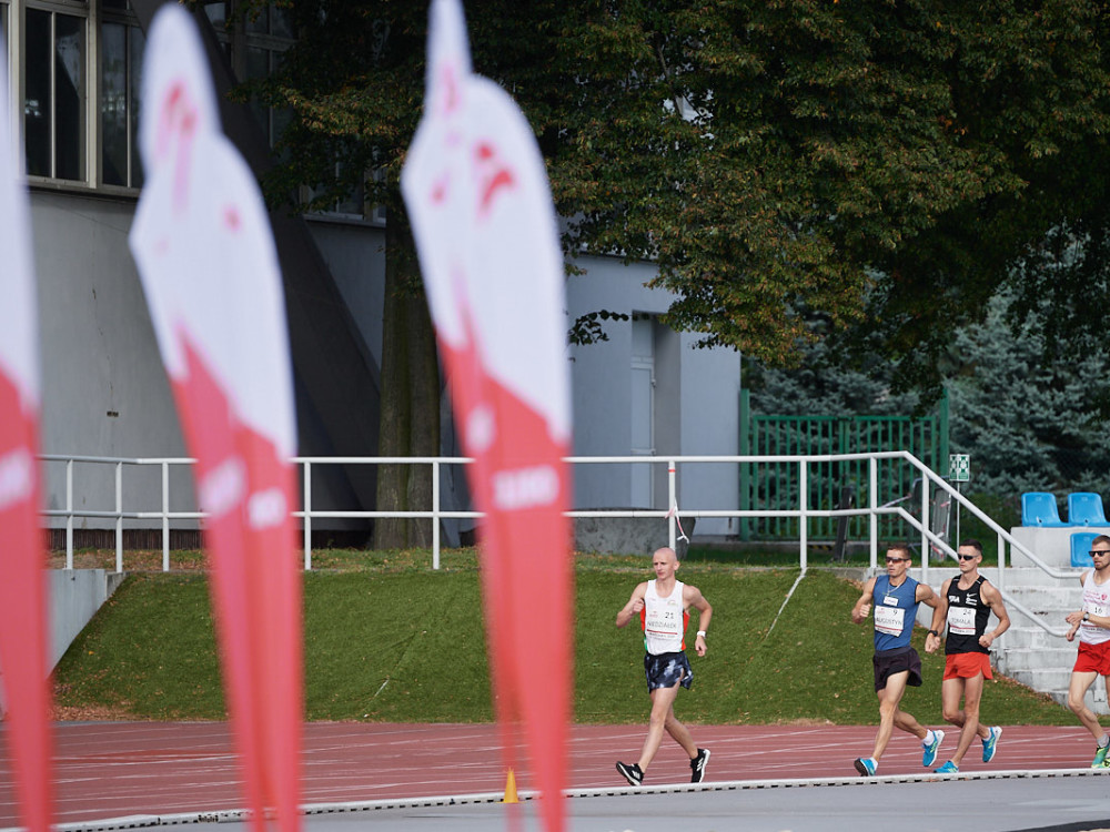
<svg viewBox="0 0 1110 832">
<path fill-rule="evenodd" d="M 105 185 L 142 187 L 135 138 L 144 42 L 142 30 L 122 19 L 100 26 L 100 177 Z"/>
</svg>

